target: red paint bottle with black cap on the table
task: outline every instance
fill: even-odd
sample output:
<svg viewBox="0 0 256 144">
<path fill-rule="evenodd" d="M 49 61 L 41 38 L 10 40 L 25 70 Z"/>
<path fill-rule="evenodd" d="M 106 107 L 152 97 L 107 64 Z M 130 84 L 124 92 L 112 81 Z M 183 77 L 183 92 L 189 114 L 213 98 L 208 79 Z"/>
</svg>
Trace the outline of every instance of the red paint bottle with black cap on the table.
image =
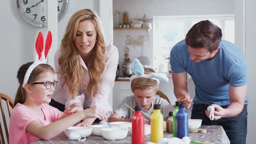
<svg viewBox="0 0 256 144">
<path fill-rule="evenodd" d="M 141 112 L 141 105 L 135 106 L 135 113 L 131 117 L 132 121 L 132 144 L 144 144 L 144 122 L 145 117 Z"/>
</svg>

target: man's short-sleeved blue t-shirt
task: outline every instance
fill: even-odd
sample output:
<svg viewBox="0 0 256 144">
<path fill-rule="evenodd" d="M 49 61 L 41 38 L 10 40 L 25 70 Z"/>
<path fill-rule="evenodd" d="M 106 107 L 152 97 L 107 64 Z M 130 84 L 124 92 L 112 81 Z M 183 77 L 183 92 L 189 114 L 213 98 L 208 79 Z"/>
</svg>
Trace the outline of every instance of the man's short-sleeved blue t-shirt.
<svg viewBox="0 0 256 144">
<path fill-rule="evenodd" d="M 247 83 L 247 65 L 243 52 L 229 41 L 222 40 L 219 51 L 210 61 L 191 61 L 185 40 L 177 43 L 170 53 L 174 73 L 187 73 L 195 83 L 195 104 L 229 105 L 229 85 L 244 86 Z M 248 104 L 246 96 L 245 104 Z"/>
</svg>

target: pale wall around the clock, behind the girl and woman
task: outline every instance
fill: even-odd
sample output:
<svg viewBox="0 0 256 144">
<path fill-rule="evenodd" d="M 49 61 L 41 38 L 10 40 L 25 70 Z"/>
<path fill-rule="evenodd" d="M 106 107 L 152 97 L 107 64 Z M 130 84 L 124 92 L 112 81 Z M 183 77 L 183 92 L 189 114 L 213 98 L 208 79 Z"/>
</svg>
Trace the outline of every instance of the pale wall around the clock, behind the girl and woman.
<svg viewBox="0 0 256 144">
<path fill-rule="evenodd" d="M 33 61 L 32 50 L 36 34 L 38 31 L 45 33 L 47 28 L 38 28 L 26 23 L 19 14 L 16 1 L 3 1 L 0 7 L 0 13 L 2 14 L 0 23 L 0 93 L 7 94 L 15 99 L 16 89 L 18 88 L 17 71 L 21 64 Z M 69 0 L 68 11 L 58 24 L 59 46 L 71 15 L 75 11 L 85 8 L 94 9 L 98 13 L 98 1 Z"/>
</svg>

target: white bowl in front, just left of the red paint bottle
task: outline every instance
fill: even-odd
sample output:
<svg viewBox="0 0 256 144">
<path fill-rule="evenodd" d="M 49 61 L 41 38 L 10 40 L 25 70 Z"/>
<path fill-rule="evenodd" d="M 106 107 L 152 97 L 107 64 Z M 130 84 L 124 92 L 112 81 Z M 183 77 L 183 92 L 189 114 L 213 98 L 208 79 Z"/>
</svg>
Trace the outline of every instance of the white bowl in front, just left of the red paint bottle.
<svg viewBox="0 0 256 144">
<path fill-rule="evenodd" d="M 101 134 L 104 137 L 104 139 L 122 140 L 122 139 L 125 139 L 125 137 L 128 134 L 127 128 L 112 127 L 112 129 L 111 128 L 102 128 L 101 129 Z"/>
</svg>

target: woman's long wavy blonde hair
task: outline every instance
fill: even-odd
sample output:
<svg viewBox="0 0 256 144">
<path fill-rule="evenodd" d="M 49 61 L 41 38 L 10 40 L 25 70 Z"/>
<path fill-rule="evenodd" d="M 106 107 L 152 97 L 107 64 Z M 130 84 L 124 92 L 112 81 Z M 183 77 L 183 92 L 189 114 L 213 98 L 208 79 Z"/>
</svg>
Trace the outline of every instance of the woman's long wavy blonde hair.
<svg viewBox="0 0 256 144">
<path fill-rule="evenodd" d="M 78 23 L 91 20 L 94 22 L 96 29 L 96 43 L 94 48 L 88 53 L 86 63 L 90 81 L 87 87 L 87 92 L 93 97 L 100 88 L 101 75 L 105 69 L 105 49 L 103 31 L 101 21 L 95 11 L 91 9 L 82 9 L 74 13 L 69 20 L 66 32 L 61 40 L 61 56 L 59 58 L 60 70 L 57 71 L 61 74 L 61 86 L 65 83 L 69 86 L 71 97 L 75 98 L 75 92 L 84 86 L 84 70 L 80 64 L 80 56 L 74 40 L 77 33 Z"/>
</svg>

